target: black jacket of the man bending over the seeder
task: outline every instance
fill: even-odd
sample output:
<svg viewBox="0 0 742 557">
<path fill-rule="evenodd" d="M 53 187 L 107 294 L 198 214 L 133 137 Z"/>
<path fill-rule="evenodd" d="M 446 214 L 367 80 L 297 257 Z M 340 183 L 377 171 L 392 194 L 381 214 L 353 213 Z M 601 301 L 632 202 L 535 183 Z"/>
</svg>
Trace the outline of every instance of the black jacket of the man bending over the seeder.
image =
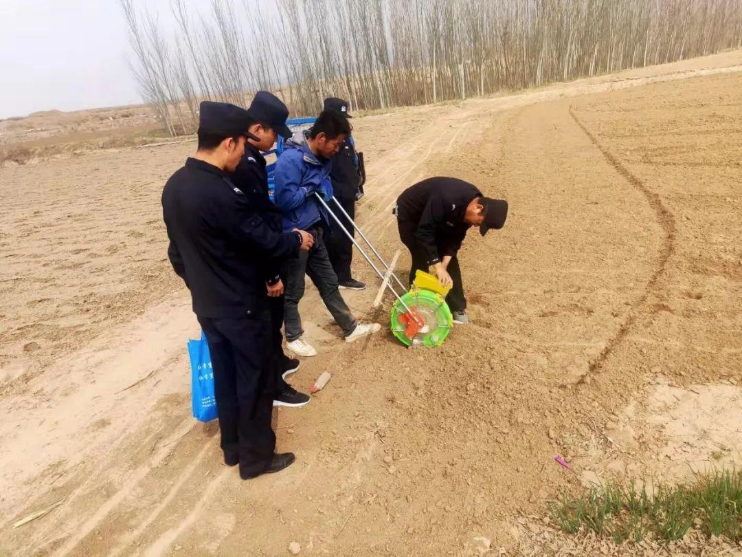
<svg viewBox="0 0 742 557">
<path fill-rule="evenodd" d="M 464 222 L 464 213 L 470 201 L 480 197 L 482 192 L 464 180 L 427 178 L 405 189 L 397 199 L 400 229 L 412 230 L 414 241 L 427 254 L 427 264 L 436 264 L 462 247 L 471 226 Z"/>
</svg>

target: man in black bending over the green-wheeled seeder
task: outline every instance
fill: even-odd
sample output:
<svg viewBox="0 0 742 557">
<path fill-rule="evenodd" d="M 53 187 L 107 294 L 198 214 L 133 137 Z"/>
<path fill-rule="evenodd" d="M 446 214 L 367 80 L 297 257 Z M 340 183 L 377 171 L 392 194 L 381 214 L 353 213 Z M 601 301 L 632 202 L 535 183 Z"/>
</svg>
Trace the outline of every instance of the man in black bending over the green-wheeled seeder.
<svg viewBox="0 0 742 557">
<path fill-rule="evenodd" d="M 418 269 L 433 267 L 441 284 L 453 284 L 446 297 L 453 322 L 469 322 L 457 253 L 470 227 L 479 227 L 484 236 L 490 228 L 505 225 L 507 201 L 485 198 L 464 180 L 433 177 L 405 189 L 395 214 L 399 238 L 412 256 L 410 284 Z"/>
</svg>

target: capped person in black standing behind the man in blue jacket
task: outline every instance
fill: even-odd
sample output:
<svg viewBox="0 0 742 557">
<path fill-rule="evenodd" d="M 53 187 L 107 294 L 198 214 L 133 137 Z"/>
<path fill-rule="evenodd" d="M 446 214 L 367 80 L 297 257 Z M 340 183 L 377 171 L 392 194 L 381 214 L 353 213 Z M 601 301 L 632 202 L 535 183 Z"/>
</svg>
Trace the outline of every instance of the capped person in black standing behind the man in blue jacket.
<svg viewBox="0 0 742 557">
<path fill-rule="evenodd" d="M 348 103 L 337 97 L 329 97 L 324 100 L 324 110 L 341 114 L 346 118 L 352 118 L 348 114 Z M 361 176 L 358 174 L 358 156 L 355 154 L 355 141 L 352 135 L 348 135 L 340 144 L 338 154 L 332 157 L 332 167 L 329 177 L 332 180 L 332 192 L 335 199 L 341 204 L 348 216 L 355 220 L 355 201 L 358 196 L 358 184 Z M 335 206 L 330 204 L 332 209 Z M 351 235 L 355 235 L 355 228 L 347 218 L 337 211 L 338 218 Z M 332 223 L 335 224 L 335 223 Z M 332 234 L 327 237 L 327 254 L 335 274 L 338 276 L 338 287 L 348 290 L 364 290 L 366 284 L 355 280 L 350 272 L 350 264 L 353 258 L 353 243 L 347 235 L 338 227 L 334 227 Z"/>
</svg>

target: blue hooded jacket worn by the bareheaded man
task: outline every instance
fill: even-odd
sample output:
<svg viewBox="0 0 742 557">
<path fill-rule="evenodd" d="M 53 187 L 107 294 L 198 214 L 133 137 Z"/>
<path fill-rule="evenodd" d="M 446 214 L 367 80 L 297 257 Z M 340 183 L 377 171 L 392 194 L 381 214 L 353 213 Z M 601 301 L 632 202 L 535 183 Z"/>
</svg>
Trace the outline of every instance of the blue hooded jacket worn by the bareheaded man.
<svg viewBox="0 0 742 557">
<path fill-rule="evenodd" d="M 319 160 L 312 153 L 303 132 L 286 141 L 274 175 L 274 199 L 283 212 L 285 232 L 295 228 L 307 230 L 321 222 L 329 225 L 327 212 L 315 197 L 315 192 L 320 192 L 328 201 L 332 198 L 331 166 L 329 160 Z"/>
</svg>

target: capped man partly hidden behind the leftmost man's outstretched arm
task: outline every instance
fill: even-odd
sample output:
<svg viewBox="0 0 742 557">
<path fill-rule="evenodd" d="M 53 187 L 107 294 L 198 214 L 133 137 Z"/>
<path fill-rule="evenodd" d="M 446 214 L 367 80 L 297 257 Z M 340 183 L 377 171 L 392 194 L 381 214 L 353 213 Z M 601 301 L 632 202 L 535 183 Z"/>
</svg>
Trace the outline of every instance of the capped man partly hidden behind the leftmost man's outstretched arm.
<svg viewBox="0 0 742 557">
<path fill-rule="evenodd" d="M 268 172 L 266 160 L 261 152 L 273 148 L 278 136 L 288 139 L 292 132 L 286 126 L 289 109 L 274 94 L 257 91 L 252 104 L 247 109 L 250 123 L 248 131 L 258 137 L 249 138 L 245 143 L 245 154 L 232 175 L 232 181 L 240 188 L 255 206 L 263 221 L 274 232 L 282 232 L 282 213 L 271 201 L 268 191 Z M 273 399 L 274 406 L 298 407 L 309 403 L 309 395 L 300 393 L 286 383 L 286 376 L 298 370 L 298 359 L 289 358 L 283 353 L 283 287 L 286 281 L 282 261 L 272 258 L 264 261 L 264 278 L 271 313 L 271 335 L 273 363 L 278 377 L 278 388 Z"/>
</svg>

